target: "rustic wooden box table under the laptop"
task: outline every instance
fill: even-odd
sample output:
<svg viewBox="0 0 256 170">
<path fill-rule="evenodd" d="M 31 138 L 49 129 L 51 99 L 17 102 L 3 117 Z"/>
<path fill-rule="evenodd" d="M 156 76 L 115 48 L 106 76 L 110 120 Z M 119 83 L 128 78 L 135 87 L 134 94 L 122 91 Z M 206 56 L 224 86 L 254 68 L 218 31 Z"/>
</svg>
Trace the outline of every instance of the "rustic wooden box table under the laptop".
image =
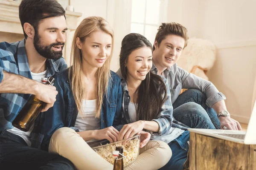
<svg viewBox="0 0 256 170">
<path fill-rule="evenodd" d="M 256 145 L 190 132 L 190 170 L 256 170 Z"/>
</svg>

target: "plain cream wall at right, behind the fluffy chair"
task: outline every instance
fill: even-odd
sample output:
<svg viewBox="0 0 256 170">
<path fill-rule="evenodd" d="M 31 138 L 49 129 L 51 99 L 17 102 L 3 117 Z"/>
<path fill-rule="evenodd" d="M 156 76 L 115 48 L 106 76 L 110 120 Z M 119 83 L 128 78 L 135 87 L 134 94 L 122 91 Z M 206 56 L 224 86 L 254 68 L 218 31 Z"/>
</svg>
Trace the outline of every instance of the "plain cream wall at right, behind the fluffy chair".
<svg viewBox="0 0 256 170">
<path fill-rule="evenodd" d="M 255 0 L 169 0 L 169 22 L 186 26 L 189 37 L 216 45 L 218 54 L 209 80 L 227 96 L 232 117 L 245 123 L 256 93 L 255 6 Z"/>
</svg>

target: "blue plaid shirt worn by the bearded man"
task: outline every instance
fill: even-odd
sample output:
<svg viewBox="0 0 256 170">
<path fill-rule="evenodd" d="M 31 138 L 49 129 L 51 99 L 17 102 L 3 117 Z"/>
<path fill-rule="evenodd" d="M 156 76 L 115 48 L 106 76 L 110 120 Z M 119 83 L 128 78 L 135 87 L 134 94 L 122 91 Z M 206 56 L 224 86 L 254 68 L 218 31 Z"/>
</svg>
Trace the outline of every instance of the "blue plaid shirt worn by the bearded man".
<svg viewBox="0 0 256 170">
<path fill-rule="evenodd" d="M 67 68 L 64 58 L 47 59 L 46 65 L 47 77 Z M 0 42 L 0 83 L 3 79 L 3 71 L 32 79 L 24 39 L 14 43 Z M 13 119 L 29 97 L 30 94 L 0 94 L 0 130 L 13 128 Z M 40 119 L 40 116 L 38 116 L 38 119 Z M 37 127 L 36 122 L 34 127 Z"/>
</svg>

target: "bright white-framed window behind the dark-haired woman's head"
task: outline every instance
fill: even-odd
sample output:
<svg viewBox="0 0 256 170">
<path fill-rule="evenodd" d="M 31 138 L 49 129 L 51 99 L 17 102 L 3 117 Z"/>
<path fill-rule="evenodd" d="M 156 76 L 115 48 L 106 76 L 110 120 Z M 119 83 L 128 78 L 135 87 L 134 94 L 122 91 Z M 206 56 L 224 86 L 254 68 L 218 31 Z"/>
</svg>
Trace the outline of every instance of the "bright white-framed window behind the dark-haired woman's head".
<svg viewBox="0 0 256 170">
<path fill-rule="evenodd" d="M 132 0 L 131 33 L 144 35 L 153 45 L 157 28 L 167 17 L 166 0 Z"/>
</svg>

